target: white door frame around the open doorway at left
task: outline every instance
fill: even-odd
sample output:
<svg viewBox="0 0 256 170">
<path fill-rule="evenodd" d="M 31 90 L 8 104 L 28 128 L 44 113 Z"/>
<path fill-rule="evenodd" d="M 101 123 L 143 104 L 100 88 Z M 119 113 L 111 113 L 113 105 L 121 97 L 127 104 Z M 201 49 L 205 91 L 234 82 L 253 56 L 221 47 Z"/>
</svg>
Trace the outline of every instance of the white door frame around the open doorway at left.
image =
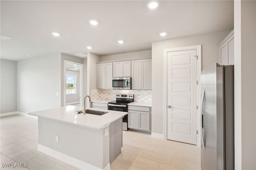
<svg viewBox="0 0 256 170">
<path fill-rule="evenodd" d="M 77 67 L 79 67 L 79 69 L 80 69 L 80 83 L 79 83 L 79 85 L 80 85 L 80 105 L 83 105 L 83 95 L 84 95 L 84 75 L 83 75 L 83 73 L 84 73 L 84 64 L 82 64 L 82 63 L 76 63 L 76 62 L 74 62 L 74 61 L 68 61 L 68 60 L 64 60 L 64 83 L 63 83 L 63 86 L 64 86 L 64 88 L 63 88 L 63 90 L 64 90 L 64 106 L 66 106 L 66 64 L 67 63 L 71 63 L 71 64 L 76 64 L 77 65 Z"/>
</svg>

